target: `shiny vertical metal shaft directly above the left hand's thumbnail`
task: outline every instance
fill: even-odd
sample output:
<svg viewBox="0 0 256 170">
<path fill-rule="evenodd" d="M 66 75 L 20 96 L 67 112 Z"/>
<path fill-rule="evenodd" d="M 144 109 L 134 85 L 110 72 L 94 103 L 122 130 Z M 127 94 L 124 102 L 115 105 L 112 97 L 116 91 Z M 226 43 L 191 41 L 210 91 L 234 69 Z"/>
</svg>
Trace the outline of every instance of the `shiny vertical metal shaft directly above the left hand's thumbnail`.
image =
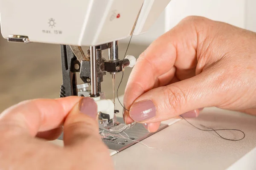
<svg viewBox="0 0 256 170">
<path fill-rule="evenodd" d="M 90 46 L 91 96 L 99 96 L 97 88 L 96 47 Z"/>
</svg>

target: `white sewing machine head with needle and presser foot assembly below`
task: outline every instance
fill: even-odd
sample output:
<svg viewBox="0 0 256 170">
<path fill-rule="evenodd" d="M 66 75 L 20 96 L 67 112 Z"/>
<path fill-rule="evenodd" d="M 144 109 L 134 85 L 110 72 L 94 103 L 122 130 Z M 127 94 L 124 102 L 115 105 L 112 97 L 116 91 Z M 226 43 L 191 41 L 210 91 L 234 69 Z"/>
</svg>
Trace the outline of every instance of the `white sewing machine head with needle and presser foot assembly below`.
<svg viewBox="0 0 256 170">
<path fill-rule="evenodd" d="M 105 99 L 101 82 L 110 73 L 114 84 L 117 73 L 134 66 L 136 58 L 131 55 L 119 59 L 118 40 L 147 31 L 169 1 L 0 0 L 1 32 L 9 42 L 61 44 L 60 97 L 92 97 L 98 105 L 99 127 L 120 133 L 136 123 L 116 120 L 119 111 L 115 102 Z M 84 52 L 81 46 L 90 49 Z M 103 50 L 108 50 L 108 60 L 102 57 Z M 83 84 L 76 84 L 76 72 Z"/>
</svg>

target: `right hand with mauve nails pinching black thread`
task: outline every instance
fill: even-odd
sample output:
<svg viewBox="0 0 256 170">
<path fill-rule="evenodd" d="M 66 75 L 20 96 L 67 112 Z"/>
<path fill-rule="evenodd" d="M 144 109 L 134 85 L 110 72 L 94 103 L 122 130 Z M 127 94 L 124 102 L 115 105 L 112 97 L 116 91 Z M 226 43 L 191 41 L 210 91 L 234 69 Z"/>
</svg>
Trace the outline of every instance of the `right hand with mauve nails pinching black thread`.
<svg viewBox="0 0 256 170">
<path fill-rule="evenodd" d="M 187 17 L 139 57 L 125 90 L 126 123 L 160 122 L 216 106 L 256 114 L 256 33 Z"/>
</svg>

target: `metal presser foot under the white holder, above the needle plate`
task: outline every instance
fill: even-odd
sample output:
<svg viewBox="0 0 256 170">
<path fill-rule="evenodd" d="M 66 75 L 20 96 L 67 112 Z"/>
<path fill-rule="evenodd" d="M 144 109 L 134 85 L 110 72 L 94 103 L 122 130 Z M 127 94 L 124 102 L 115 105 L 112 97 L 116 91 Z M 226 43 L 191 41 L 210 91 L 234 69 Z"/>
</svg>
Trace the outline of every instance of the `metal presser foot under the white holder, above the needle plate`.
<svg viewBox="0 0 256 170">
<path fill-rule="evenodd" d="M 125 123 L 120 123 L 116 120 L 116 115 L 113 119 L 99 119 L 99 128 L 111 133 L 122 133 L 123 131 L 134 127 L 137 122 L 132 122 L 131 124 L 126 125 Z"/>
</svg>

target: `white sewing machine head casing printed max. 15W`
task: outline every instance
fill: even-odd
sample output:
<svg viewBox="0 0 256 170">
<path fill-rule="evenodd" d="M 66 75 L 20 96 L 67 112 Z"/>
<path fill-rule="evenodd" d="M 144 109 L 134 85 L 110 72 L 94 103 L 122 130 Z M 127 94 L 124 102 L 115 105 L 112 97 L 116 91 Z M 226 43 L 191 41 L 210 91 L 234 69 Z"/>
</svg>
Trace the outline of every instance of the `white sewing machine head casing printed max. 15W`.
<svg viewBox="0 0 256 170">
<path fill-rule="evenodd" d="M 142 34 L 170 0 L 0 0 L 1 32 L 30 42 L 101 45 Z"/>
</svg>

